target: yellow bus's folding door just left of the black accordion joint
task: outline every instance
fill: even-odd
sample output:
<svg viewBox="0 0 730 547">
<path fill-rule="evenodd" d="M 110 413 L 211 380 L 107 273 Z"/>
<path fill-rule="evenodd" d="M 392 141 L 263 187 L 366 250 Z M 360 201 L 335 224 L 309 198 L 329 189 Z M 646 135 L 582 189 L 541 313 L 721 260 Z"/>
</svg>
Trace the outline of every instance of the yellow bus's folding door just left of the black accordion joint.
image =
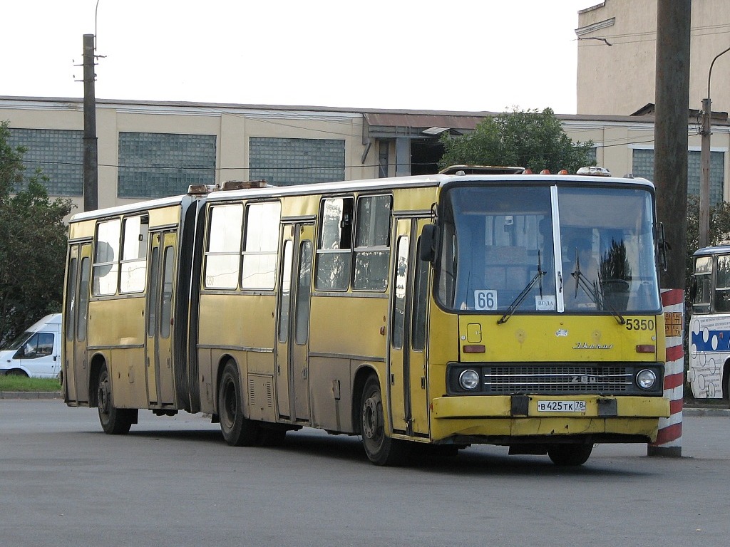
<svg viewBox="0 0 730 547">
<path fill-rule="evenodd" d="M 150 404 L 175 402 L 172 370 L 172 295 L 177 234 L 153 233 L 150 237 L 150 271 L 147 286 L 147 398 Z"/>
</svg>

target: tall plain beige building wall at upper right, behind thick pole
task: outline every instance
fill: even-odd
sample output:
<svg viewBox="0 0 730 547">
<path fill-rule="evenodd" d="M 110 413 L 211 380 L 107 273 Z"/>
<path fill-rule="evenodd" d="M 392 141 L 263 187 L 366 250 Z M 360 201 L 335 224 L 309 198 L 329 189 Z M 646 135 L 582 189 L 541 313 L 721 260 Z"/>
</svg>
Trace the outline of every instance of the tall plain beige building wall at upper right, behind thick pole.
<svg viewBox="0 0 730 547">
<path fill-rule="evenodd" d="M 630 115 L 655 102 L 656 6 L 605 0 L 578 12 L 578 114 Z M 691 29 L 689 106 L 701 109 L 712 58 L 730 45 L 730 2 L 694 0 Z M 730 52 L 715 62 L 711 85 L 712 110 L 730 111 Z"/>
</svg>

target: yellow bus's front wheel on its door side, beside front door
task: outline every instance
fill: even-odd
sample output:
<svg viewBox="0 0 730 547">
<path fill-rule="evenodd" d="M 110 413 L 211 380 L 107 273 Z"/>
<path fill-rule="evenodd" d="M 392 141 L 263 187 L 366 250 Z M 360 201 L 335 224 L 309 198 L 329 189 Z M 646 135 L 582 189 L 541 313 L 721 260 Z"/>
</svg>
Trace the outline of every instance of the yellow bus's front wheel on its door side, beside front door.
<svg viewBox="0 0 730 547">
<path fill-rule="evenodd" d="M 407 457 L 407 443 L 385 432 L 383 396 L 377 377 L 365 382 L 361 407 L 362 441 L 368 459 L 375 465 L 401 465 Z"/>
</svg>

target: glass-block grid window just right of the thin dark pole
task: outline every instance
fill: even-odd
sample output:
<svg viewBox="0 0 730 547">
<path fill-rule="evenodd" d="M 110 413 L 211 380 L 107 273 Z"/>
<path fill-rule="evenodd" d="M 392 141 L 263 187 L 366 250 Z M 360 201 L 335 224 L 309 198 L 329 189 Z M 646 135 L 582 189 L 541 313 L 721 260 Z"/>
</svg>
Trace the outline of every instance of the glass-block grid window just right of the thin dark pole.
<svg viewBox="0 0 730 547">
<path fill-rule="evenodd" d="M 117 195 L 164 198 L 215 184 L 215 135 L 119 133 Z"/>
</svg>

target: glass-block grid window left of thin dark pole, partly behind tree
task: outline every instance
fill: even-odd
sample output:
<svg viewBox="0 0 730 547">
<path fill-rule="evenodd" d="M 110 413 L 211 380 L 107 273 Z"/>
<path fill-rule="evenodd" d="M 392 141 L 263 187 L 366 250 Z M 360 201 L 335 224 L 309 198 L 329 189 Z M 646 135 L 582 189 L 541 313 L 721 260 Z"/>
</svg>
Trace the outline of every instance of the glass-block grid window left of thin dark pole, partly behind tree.
<svg viewBox="0 0 730 547">
<path fill-rule="evenodd" d="M 83 136 L 83 131 L 66 129 L 11 128 L 8 144 L 26 148 L 26 178 L 42 169 L 48 177 L 43 184 L 49 195 L 83 195 Z"/>
</svg>

